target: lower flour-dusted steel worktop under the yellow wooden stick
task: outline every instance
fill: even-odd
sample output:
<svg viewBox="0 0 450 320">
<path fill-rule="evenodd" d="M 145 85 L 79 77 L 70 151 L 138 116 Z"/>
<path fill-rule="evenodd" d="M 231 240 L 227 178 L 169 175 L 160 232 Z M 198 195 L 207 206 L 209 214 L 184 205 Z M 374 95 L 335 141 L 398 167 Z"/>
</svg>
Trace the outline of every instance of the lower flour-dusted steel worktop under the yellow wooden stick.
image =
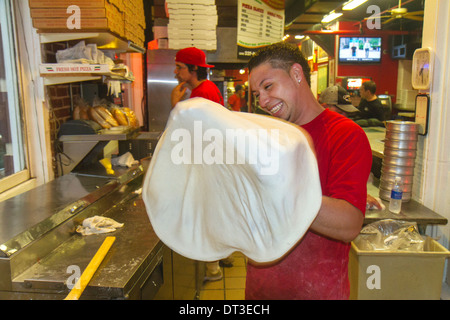
<svg viewBox="0 0 450 320">
<path fill-rule="evenodd" d="M 69 267 L 84 270 L 106 236 L 116 237 L 112 248 L 84 291 L 83 299 L 141 299 L 142 288 L 155 269 L 162 268 L 165 246 L 153 232 L 141 199 L 130 199 L 105 213 L 124 226 L 113 233 L 82 236 L 74 234 L 49 255 L 15 277 L 12 291 L 23 296 L 64 298 Z M 157 270 L 146 291 L 153 298 L 163 283 Z M 26 294 L 28 293 L 28 294 Z"/>
</svg>

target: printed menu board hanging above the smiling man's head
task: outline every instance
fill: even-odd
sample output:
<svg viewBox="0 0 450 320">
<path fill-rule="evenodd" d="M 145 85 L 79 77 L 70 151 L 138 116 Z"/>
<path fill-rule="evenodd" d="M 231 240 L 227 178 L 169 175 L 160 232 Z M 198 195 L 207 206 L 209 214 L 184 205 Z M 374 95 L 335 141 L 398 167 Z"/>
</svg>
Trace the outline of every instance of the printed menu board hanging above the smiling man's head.
<svg viewBox="0 0 450 320">
<path fill-rule="evenodd" d="M 250 57 L 284 35 L 284 0 L 238 1 L 238 58 Z"/>
</svg>

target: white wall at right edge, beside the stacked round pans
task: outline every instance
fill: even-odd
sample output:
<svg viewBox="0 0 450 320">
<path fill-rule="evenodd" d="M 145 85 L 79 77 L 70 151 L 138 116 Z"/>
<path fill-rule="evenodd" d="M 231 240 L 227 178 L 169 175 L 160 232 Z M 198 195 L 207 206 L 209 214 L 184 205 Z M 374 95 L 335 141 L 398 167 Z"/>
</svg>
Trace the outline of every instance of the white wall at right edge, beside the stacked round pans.
<svg viewBox="0 0 450 320">
<path fill-rule="evenodd" d="M 435 60 L 428 135 L 419 140 L 420 199 L 450 221 L 450 1 L 425 1 L 422 46 L 433 49 Z M 450 226 L 431 229 L 431 236 L 449 248 Z"/>
</svg>

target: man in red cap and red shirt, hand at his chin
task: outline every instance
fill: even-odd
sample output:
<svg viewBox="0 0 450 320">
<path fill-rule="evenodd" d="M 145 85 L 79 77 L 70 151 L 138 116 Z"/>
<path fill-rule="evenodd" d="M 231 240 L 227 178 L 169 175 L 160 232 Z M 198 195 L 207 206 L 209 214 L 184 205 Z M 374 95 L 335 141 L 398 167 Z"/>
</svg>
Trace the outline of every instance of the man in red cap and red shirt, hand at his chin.
<svg viewBox="0 0 450 320">
<path fill-rule="evenodd" d="M 191 98 L 201 97 L 224 105 L 219 89 L 207 79 L 207 68 L 214 66 L 206 64 L 202 50 L 194 47 L 181 49 L 175 56 L 175 65 L 174 73 L 179 84 L 172 91 L 172 107 L 182 100 L 188 87 L 192 90 Z"/>
</svg>

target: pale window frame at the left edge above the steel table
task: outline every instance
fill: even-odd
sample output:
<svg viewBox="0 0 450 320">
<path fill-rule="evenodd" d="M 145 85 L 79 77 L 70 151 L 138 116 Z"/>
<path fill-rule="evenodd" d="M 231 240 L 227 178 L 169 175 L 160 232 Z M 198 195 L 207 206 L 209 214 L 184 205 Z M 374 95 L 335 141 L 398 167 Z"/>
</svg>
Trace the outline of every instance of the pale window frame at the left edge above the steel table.
<svg viewBox="0 0 450 320">
<path fill-rule="evenodd" d="M 0 0 L 7 3 L 11 21 L 16 63 L 18 105 L 21 107 L 26 169 L 0 180 L 0 202 L 54 179 L 49 108 L 44 81 L 39 74 L 42 63 L 40 36 L 33 28 L 28 1 Z M 6 11 L 6 10 L 5 10 Z"/>
</svg>

